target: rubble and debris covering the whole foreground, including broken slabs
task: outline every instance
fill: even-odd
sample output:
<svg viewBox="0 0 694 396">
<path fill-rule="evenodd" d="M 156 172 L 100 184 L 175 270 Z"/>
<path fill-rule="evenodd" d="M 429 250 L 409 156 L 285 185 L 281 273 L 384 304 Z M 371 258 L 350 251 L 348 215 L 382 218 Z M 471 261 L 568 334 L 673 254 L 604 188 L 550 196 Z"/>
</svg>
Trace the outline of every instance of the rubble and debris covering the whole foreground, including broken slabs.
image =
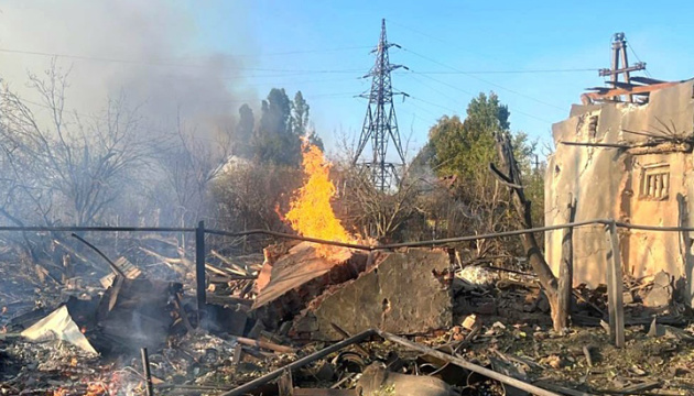
<svg viewBox="0 0 694 396">
<path fill-rule="evenodd" d="M 532 275 L 452 257 L 306 242 L 212 251 L 203 312 L 188 276 L 156 280 L 119 260 L 129 276 L 106 288 L 4 309 L 0 395 L 147 395 L 149 381 L 154 394 L 224 396 L 694 391 L 694 328 L 669 275 L 626 279 L 617 349 L 604 286 L 573 290 L 573 326 L 557 334 Z"/>
</svg>

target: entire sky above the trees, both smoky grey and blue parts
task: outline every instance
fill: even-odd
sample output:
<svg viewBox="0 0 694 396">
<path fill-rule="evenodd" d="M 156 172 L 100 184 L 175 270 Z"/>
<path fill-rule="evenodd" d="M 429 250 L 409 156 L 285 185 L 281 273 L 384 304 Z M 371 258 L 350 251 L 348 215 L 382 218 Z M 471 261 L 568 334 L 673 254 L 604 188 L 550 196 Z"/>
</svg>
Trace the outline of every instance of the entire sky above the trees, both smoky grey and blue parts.
<svg viewBox="0 0 694 396">
<path fill-rule="evenodd" d="M 551 142 L 551 124 L 567 116 L 584 88 L 603 84 L 596 69 L 609 66 L 615 32 L 626 33 L 638 55 L 630 51 L 630 62 L 646 62 L 654 78 L 692 77 L 694 57 L 688 1 L 618 9 L 598 1 L 50 3 L 0 1 L 0 50 L 76 55 L 58 65 L 72 68 L 73 88 L 84 92 L 97 92 L 99 84 L 118 90 L 120 80 L 111 78 L 128 72 L 135 76 L 128 84 L 147 91 L 143 97 L 171 101 L 161 106 L 166 116 L 214 107 L 237 117 L 247 102 L 259 114 L 257 103 L 271 88 L 301 90 L 328 151 L 343 135 L 358 139 L 367 102 L 355 96 L 369 89 L 360 77 L 373 64 L 369 51 L 381 18 L 389 40 L 402 46 L 391 50 L 391 62 L 410 68 L 393 74 L 393 87 L 411 96 L 397 100 L 410 157 L 441 116 L 464 116 L 474 97 L 489 91 L 508 105 L 511 130 L 540 139 L 540 146 Z M 134 74 L 127 62 L 108 61 L 132 58 L 164 64 L 138 64 L 145 72 Z M 187 66 L 202 59 L 202 68 Z M 21 88 L 21 75 L 41 73 L 48 62 L 0 51 L 0 74 Z M 85 94 L 84 102 L 96 96 Z"/>
</svg>

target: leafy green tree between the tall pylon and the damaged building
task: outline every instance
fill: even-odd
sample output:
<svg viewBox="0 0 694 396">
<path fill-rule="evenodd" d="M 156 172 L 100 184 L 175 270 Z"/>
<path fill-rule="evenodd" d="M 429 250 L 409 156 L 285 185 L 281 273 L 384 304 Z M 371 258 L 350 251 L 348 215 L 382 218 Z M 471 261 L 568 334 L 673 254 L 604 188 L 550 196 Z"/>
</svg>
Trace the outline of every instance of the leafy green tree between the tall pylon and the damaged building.
<svg viewBox="0 0 694 396">
<path fill-rule="evenodd" d="M 444 116 L 430 130 L 429 142 L 415 157 L 412 172 L 420 177 L 435 176 L 438 186 L 443 185 L 446 191 L 431 194 L 422 204 L 437 237 L 498 232 L 514 227 L 508 191 L 488 169 L 490 163 L 498 161 L 495 139 L 498 133 L 511 134 L 523 182 L 533 183 L 533 188 L 528 190 L 529 198 L 535 198 L 531 191 L 541 198 L 538 177 L 531 175 L 534 144 L 525 133 L 510 133 L 509 116 L 508 107 L 497 95 L 480 94 L 470 101 L 464 120 Z M 541 213 L 542 199 L 534 202 L 533 212 Z M 518 242 L 486 240 L 474 248 L 479 256 L 491 252 L 514 254 Z"/>
</svg>

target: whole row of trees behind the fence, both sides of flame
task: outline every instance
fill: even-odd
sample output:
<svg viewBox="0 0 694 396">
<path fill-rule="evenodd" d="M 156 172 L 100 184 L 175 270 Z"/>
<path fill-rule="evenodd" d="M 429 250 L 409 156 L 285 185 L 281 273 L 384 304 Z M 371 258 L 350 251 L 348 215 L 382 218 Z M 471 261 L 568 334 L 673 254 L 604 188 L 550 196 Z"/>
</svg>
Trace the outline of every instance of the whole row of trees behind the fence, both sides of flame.
<svg viewBox="0 0 694 396">
<path fill-rule="evenodd" d="M 301 91 L 270 90 L 259 114 L 246 103 L 234 123 L 173 120 L 154 129 L 126 98 L 87 117 L 66 109 L 59 70 L 30 76 L 32 103 L 0 90 L 0 222 L 13 226 L 192 226 L 290 231 L 281 215 L 301 185 L 302 140 L 323 143 Z M 258 108 L 257 108 L 258 109 Z M 234 112 L 234 111 L 230 111 Z M 348 230 L 380 241 L 422 240 L 517 228 L 509 193 L 488 169 L 495 136 L 512 135 L 533 219 L 542 224 L 543 167 L 535 143 L 512 132 L 510 111 L 480 94 L 465 116 L 443 114 L 408 164 L 399 188 L 377 191 L 350 158 L 333 158 L 334 206 Z M 54 235 L 59 238 L 59 235 Z M 0 237 L 35 260 L 40 238 Z M 257 250 L 268 241 L 229 246 Z M 466 245 L 477 257 L 518 255 L 511 240 Z"/>
</svg>

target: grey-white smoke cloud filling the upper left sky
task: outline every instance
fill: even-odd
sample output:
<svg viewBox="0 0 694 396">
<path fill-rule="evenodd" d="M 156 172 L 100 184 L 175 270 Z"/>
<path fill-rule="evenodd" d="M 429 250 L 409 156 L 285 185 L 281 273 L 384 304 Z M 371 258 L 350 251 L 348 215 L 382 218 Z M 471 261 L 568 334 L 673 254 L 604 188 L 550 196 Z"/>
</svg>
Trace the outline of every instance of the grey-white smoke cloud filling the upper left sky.
<svg viewBox="0 0 694 396">
<path fill-rule="evenodd" d="M 229 24 L 243 15 L 237 10 Z M 243 95 L 245 65 L 200 50 L 198 33 L 191 10 L 165 0 L 0 2 L 0 50 L 77 56 L 55 61 L 69 70 L 66 109 L 82 113 L 124 97 L 152 122 L 171 123 L 178 113 L 197 122 L 236 116 L 241 99 L 253 97 Z M 39 101 L 26 87 L 28 72 L 42 75 L 52 59 L 0 51 L 0 77 Z"/>
</svg>

